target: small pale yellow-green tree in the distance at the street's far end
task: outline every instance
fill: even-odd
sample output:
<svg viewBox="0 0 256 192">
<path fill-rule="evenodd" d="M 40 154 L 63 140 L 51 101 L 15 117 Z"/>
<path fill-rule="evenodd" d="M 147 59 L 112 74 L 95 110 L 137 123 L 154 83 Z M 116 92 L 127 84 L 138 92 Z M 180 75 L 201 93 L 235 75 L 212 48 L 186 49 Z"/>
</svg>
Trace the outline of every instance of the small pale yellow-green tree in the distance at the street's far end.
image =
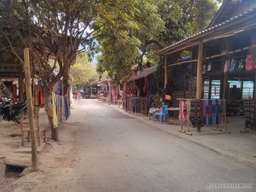
<svg viewBox="0 0 256 192">
<path fill-rule="evenodd" d="M 81 89 L 84 84 L 96 81 L 98 78 L 96 68 L 92 66 L 85 52 L 77 55 L 75 64 L 70 68 L 70 73 L 72 83 L 75 84 L 78 89 Z"/>
</svg>

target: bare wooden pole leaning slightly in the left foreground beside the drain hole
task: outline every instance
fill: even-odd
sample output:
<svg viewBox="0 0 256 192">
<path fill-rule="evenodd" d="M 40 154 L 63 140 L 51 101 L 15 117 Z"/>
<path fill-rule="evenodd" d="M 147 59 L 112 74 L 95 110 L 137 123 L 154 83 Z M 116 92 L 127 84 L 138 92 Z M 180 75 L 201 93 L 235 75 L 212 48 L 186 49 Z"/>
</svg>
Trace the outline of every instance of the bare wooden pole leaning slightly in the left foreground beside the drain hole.
<svg viewBox="0 0 256 192">
<path fill-rule="evenodd" d="M 29 49 L 25 48 L 24 51 L 24 71 L 26 77 L 26 100 L 29 115 L 30 133 L 31 133 L 31 148 L 32 148 L 32 170 L 38 170 L 38 158 L 37 158 L 37 141 L 35 132 L 35 122 L 32 105 L 32 89 L 31 89 L 31 74 L 30 74 L 30 61 L 29 61 Z"/>
</svg>

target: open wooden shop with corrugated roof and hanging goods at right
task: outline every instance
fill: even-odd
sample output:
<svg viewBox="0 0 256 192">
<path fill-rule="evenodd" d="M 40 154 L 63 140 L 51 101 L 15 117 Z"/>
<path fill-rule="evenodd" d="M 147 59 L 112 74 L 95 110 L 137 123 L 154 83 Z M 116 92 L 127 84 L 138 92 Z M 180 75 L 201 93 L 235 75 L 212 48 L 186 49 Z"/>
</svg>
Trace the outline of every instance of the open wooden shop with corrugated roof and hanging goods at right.
<svg viewBox="0 0 256 192">
<path fill-rule="evenodd" d="M 253 9 L 245 11 L 248 7 Z M 229 14 L 225 12 L 228 8 Z M 230 17 L 220 22 L 219 18 L 224 14 Z M 183 51 L 191 55 L 192 67 L 187 89 L 194 85 L 194 79 L 195 91 L 183 99 L 194 100 L 200 104 L 195 104 L 195 108 L 189 106 L 189 114 L 194 115 L 192 118 L 189 116 L 189 119 L 202 121 L 202 124 L 211 122 L 218 127 L 226 123 L 226 115 L 245 114 L 245 119 L 241 120 L 245 120 L 246 126 L 255 130 L 255 18 L 255 3 L 251 2 L 248 6 L 248 1 L 236 4 L 226 1 L 206 30 L 159 51 L 160 55 L 165 56 L 166 85 L 173 80 L 177 67 L 184 64 L 174 60 L 173 58 L 177 57 L 175 55 Z M 172 99 L 175 98 L 178 97 L 173 93 Z M 220 108 L 216 107 L 217 103 L 221 103 Z M 216 108 L 221 114 L 215 115 L 218 113 Z M 198 110 L 200 113 L 195 113 Z M 216 120 L 218 117 L 221 117 L 220 122 Z"/>
</svg>

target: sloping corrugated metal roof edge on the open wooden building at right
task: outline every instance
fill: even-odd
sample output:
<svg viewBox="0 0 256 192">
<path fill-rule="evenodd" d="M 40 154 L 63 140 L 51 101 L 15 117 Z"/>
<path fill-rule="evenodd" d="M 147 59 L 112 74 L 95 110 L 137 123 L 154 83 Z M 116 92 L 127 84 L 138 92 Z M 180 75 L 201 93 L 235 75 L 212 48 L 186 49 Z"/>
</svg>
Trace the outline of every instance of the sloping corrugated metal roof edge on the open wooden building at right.
<svg viewBox="0 0 256 192">
<path fill-rule="evenodd" d="M 176 45 L 179 45 L 179 44 L 182 44 L 182 43 L 185 43 L 185 42 L 188 42 L 189 40 L 191 40 L 192 38 L 197 38 L 198 36 L 200 35 L 203 35 L 203 34 L 206 34 L 207 32 L 212 32 L 213 30 L 218 30 L 218 28 L 220 27 L 223 27 L 223 26 L 227 26 L 228 24 L 230 24 L 231 22 L 234 22 L 236 20 L 240 20 L 240 19 L 243 19 L 244 17 L 246 17 L 247 15 L 250 15 L 250 14 L 253 14 L 256 12 L 256 8 L 253 8 L 253 9 L 249 9 L 248 11 L 246 12 L 243 12 L 242 14 L 240 15 L 236 15 L 235 17 L 232 17 L 230 18 L 230 20 L 226 20 L 216 26 L 212 26 L 210 28 L 207 28 L 206 30 L 203 30 L 201 32 L 197 32 L 195 33 L 194 35 L 192 36 L 189 36 L 188 38 L 183 38 L 181 41 L 178 41 L 177 43 L 175 44 L 172 44 L 164 49 L 160 49 L 160 51 L 158 51 L 158 54 L 162 54 L 163 52 L 167 51 L 168 49 L 172 49 L 173 47 L 175 47 Z"/>
</svg>

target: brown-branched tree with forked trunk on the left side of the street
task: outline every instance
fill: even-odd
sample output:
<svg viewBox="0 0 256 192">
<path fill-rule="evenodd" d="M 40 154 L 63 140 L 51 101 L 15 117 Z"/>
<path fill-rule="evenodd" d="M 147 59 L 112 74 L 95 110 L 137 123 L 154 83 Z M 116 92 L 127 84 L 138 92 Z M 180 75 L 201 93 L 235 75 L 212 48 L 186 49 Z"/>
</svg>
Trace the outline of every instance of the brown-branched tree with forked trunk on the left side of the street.
<svg viewBox="0 0 256 192">
<path fill-rule="evenodd" d="M 88 28 L 96 19 L 96 6 L 99 0 L 2 0 L 0 9 L 1 37 L 9 42 L 9 53 L 24 63 L 20 47 L 28 47 L 34 68 L 48 89 L 48 102 L 54 84 L 64 80 L 67 91 L 69 68 L 79 52 L 79 45 L 91 46 L 92 32 Z M 15 43 L 18 43 L 15 44 Z M 50 65 L 50 58 L 54 59 Z M 59 73 L 53 75 L 56 67 Z M 48 110 L 49 111 L 49 110 Z M 51 113 L 49 123 L 52 138 L 58 140 L 58 129 L 53 127 Z"/>
</svg>

